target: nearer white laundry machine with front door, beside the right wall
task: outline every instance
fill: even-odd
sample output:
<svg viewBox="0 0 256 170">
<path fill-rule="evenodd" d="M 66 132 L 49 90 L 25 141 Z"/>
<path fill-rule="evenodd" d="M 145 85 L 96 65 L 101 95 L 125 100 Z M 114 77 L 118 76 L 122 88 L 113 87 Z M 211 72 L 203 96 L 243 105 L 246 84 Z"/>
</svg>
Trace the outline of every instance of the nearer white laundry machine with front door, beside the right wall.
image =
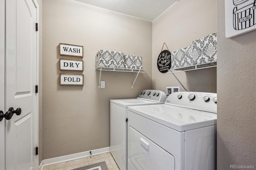
<svg viewBox="0 0 256 170">
<path fill-rule="evenodd" d="M 129 170 L 216 169 L 217 94 L 176 92 L 128 108 Z"/>
</svg>

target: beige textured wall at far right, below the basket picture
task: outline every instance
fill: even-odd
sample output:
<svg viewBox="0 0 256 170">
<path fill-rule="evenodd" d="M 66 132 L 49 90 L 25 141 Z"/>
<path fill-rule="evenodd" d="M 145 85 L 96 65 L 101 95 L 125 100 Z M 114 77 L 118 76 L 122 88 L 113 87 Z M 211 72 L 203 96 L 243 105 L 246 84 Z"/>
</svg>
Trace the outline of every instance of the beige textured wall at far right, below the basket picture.
<svg viewBox="0 0 256 170">
<path fill-rule="evenodd" d="M 256 167 L 256 31 L 225 38 L 224 1 L 218 0 L 217 169 Z"/>
</svg>

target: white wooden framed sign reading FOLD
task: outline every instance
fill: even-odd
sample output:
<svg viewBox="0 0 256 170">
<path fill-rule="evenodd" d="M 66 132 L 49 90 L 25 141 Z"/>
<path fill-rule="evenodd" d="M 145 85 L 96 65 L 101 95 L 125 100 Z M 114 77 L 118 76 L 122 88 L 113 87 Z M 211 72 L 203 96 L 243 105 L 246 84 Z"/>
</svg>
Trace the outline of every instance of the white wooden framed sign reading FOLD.
<svg viewBox="0 0 256 170">
<path fill-rule="evenodd" d="M 60 85 L 84 85 L 84 75 L 60 74 Z"/>
</svg>

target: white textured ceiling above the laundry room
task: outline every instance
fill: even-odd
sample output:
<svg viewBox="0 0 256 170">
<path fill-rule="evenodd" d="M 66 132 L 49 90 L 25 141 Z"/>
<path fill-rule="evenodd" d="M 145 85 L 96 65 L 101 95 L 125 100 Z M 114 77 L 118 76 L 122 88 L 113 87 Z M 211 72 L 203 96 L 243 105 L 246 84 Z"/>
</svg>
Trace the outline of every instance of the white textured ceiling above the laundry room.
<svg viewBox="0 0 256 170">
<path fill-rule="evenodd" d="M 177 0 L 75 0 L 92 6 L 154 21 Z"/>
</svg>

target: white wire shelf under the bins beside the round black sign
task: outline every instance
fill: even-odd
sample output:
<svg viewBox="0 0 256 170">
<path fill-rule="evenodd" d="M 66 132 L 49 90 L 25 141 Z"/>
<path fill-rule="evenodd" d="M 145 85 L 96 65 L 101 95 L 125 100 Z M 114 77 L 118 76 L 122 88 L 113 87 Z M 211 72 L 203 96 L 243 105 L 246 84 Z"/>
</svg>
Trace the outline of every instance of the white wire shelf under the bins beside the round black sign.
<svg viewBox="0 0 256 170">
<path fill-rule="evenodd" d="M 175 68 L 175 69 L 169 69 L 168 74 L 177 73 L 177 72 L 181 72 L 181 71 L 206 69 L 206 68 L 212 68 L 212 67 L 217 67 L 217 61 L 212 61 L 212 62 L 208 62 L 208 63 L 201 63 L 201 64 L 196 64 L 196 65 L 189 65 L 189 66 L 186 66 L 186 67 L 180 67 L 180 68 Z"/>
</svg>

